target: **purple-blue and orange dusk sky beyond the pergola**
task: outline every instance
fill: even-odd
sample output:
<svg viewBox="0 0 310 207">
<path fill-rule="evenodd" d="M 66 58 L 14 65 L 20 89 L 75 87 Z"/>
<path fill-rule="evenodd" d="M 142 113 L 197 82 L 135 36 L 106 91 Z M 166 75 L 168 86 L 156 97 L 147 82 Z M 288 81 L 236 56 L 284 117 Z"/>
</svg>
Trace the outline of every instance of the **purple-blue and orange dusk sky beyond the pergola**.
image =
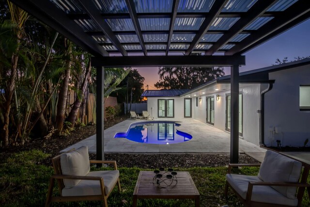
<svg viewBox="0 0 310 207">
<path fill-rule="evenodd" d="M 289 61 L 293 61 L 294 57 L 310 56 L 310 19 L 243 55 L 246 56 L 246 65 L 240 67 L 240 72 L 271 66 L 277 58 L 288 57 Z M 158 67 L 137 69 L 145 78 L 144 87 L 149 85 L 149 90 L 156 89 L 154 83 L 159 80 Z M 229 75 L 230 69 L 225 69 L 225 74 Z"/>
</svg>

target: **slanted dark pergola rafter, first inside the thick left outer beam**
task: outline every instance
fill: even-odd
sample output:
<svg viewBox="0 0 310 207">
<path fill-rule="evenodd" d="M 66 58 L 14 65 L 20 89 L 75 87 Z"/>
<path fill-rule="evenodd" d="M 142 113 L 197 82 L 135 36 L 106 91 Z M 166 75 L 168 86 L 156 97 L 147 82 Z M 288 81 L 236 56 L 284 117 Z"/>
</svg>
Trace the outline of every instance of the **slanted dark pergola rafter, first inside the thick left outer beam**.
<svg viewBox="0 0 310 207">
<path fill-rule="evenodd" d="M 104 32 L 104 34 L 109 38 L 109 40 L 113 43 L 115 48 L 117 48 L 119 52 L 121 52 L 124 56 L 126 56 L 127 51 L 124 49 L 120 41 L 116 38 L 107 22 L 104 19 L 102 19 L 99 10 L 94 5 L 94 2 L 89 0 L 77 0 L 77 1 L 81 4 L 83 9 L 92 18 L 92 20 L 98 25 L 100 30 Z"/>
</svg>

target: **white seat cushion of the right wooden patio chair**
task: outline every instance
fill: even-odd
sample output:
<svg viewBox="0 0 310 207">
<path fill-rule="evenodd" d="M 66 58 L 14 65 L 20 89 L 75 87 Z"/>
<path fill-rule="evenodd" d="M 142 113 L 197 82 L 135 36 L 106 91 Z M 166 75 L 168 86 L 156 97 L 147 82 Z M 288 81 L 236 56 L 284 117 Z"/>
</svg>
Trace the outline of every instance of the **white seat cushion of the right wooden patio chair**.
<svg viewBox="0 0 310 207">
<path fill-rule="evenodd" d="M 249 181 L 262 181 L 257 176 L 234 174 L 227 174 L 226 180 L 243 199 L 247 197 Z M 298 204 L 297 198 L 290 199 L 269 186 L 253 186 L 251 201 L 288 206 Z"/>
</svg>

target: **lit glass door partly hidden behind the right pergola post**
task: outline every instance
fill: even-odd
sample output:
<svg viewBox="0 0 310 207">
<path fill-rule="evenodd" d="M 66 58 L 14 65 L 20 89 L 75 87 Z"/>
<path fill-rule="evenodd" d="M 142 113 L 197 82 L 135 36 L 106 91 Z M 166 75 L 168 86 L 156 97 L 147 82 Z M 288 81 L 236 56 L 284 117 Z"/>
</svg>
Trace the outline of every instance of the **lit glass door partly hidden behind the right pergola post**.
<svg viewBox="0 0 310 207">
<path fill-rule="evenodd" d="M 239 94 L 239 135 L 243 132 L 243 96 Z M 226 130 L 231 131 L 231 95 L 226 94 Z"/>
</svg>

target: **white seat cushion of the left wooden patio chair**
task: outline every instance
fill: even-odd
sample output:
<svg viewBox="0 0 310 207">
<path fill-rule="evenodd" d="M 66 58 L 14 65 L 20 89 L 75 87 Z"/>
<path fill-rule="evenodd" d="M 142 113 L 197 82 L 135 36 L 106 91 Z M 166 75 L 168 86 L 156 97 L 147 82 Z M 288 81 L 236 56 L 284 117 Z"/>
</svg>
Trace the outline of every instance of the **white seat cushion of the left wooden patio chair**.
<svg viewBox="0 0 310 207">
<path fill-rule="evenodd" d="M 111 171 L 94 171 L 86 176 L 103 177 L 106 194 L 111 191 L 120 176 L 118 170 Z M 83 195 L 101 195 L 99 180 L 81 180 L 78 185 L 70 189 L 62 189 L 62 196 L 83 196 Z"/>
</svg>

